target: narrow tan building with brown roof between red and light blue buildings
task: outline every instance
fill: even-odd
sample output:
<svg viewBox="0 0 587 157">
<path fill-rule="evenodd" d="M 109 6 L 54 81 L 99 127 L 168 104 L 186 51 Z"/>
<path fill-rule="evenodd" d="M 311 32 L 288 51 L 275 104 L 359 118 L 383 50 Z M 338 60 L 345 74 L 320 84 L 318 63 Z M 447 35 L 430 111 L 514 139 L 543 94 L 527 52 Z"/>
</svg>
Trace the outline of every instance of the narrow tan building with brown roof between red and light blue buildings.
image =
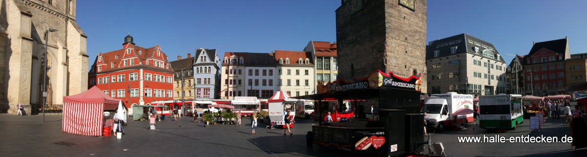
<svg viewBox="0 0 587 157">
<path fill-rule="evenodd" d="M 173 71 L 175 71 L 173 74 L 173 100 L 195 100 L 194 57 L 191 56 L 191 53 L 188 53 L 186 59 L 177 56 L 176 61 L 169 63 Z"/>
</svg>

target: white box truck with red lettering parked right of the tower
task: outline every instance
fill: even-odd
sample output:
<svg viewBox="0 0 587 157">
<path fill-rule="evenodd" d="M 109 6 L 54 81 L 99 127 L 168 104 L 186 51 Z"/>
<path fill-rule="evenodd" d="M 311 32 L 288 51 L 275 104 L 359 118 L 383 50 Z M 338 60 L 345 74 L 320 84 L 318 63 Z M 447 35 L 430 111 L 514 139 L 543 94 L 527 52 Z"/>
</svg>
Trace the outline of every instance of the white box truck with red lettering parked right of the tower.
<svg viewBox="0 0 587 157">
<path fill-rule="evenodd" d="M 424 120 L 429 128 L 442 131 L 444 127 L 453 127 L 455 124 L 468 124 L 473 121 L 473 95 L 432 94 L 435 97 L 424 99 L 421 112 L 426 112 Z"/>
</svg>

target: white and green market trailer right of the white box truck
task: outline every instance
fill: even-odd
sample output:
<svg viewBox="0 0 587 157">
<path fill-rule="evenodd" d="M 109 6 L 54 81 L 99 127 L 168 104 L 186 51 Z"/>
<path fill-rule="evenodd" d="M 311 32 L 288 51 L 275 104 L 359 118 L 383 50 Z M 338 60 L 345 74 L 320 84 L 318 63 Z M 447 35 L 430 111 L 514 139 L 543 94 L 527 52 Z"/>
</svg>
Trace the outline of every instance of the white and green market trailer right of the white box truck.
<svg viewBox="0 0 587 157">
<path fill-rule="evenodd" d="M 479 96 L 479 127 L 484 129 L 515 129 L 522 123 L 522 104 L 517 94 Z"/>
</svg>

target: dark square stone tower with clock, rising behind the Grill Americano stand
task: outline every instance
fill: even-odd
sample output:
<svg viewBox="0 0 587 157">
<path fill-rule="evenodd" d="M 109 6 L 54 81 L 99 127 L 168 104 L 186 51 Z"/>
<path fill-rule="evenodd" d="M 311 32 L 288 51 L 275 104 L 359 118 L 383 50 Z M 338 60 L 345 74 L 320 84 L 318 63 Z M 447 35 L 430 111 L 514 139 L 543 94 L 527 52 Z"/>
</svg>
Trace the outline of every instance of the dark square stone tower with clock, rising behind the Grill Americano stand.
<svg viewBox="0 0 587 157">
<path fill-rule="evenodd" d="M 404 78 L 422 74 L 427 91 L 426 21 L 426 0 L 342 0 L 336 9 L 339 78 L 377 70 Z"/>
</svg>

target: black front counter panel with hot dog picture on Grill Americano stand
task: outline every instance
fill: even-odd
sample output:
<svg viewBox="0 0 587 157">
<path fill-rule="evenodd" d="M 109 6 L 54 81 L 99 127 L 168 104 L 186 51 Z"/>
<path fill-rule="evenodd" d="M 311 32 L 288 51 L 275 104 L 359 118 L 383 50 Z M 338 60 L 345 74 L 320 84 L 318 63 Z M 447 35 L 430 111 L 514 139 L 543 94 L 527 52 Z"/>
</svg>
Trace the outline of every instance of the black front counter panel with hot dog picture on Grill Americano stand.
<svg viewBox="0 0 587 157">
<path fill-rule="evenodd" d="M 315 144 L 356 153 L 386 152 L 383 128 L 341 128 L 313 126 Z"/>
</svg>

